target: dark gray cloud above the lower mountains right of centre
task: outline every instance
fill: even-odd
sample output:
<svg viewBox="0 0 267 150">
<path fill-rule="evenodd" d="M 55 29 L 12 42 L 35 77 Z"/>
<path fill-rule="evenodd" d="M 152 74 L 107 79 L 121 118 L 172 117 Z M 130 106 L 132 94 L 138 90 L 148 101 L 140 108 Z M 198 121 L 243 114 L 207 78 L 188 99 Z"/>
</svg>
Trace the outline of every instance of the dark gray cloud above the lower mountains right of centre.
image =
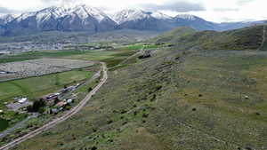
<svg viewBox="0 0 267 150">
<path fill-rule="evenodd" d="M 203 4 L 193 4 L 185 1 L 179 2 L 168 2 L 166 4 L 144 4 L 142 8 L 154 10 L 164 10 L 164 11 L 174 11 L 174 12 L 200 12 L 206 11 Z"/>
</svg>

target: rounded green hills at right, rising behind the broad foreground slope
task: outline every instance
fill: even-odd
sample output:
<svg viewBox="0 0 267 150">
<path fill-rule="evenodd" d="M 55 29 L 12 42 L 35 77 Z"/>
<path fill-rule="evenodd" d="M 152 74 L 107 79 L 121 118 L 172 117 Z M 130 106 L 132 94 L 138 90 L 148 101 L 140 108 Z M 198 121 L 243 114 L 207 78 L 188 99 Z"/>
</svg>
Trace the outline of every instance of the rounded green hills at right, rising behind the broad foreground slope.
<svg viewBox="0 0 267 150">
<path fill-rule="evenodd" d="M 178 28 L 165 36 L 158 36 L 158 41 L 169 41 L 184 50 L 256 50 L 263 42 L 263 26 L 224 32 L 193 32 L 189 28 Z"/>
</svg>

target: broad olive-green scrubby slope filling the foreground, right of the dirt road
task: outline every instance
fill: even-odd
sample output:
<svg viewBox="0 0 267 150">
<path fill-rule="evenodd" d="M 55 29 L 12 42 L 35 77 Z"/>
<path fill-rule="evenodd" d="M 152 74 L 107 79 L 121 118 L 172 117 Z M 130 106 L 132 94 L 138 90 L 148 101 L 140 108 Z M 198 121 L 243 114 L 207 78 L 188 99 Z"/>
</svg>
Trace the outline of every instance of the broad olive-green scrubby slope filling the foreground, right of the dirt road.
<svg viewBox="0 0 267 150">
<path fill-rule="evenodd" d="M 263 150 L 266 59 L 265 51 L 161 51 L 109 72 L 80 113 L 15 149 Z"/>
</svg>

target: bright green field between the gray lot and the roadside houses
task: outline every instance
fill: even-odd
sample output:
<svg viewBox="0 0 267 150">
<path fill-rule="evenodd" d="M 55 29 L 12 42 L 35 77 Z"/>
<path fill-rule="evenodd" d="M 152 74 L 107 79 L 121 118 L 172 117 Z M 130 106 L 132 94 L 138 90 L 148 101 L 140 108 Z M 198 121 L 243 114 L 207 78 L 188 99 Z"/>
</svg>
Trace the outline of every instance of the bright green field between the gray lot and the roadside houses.
<svg viewBox="0 0 267 150">
<path fill-rule="evenodd" d="M 0 83 L 0 99 L 4 101 L 10 101 L 15 97 L 37 99 L 62 89 L 64 85 L 88 79 L 92 75 L 93 72 L 82 69 Z"/>
</svg>

